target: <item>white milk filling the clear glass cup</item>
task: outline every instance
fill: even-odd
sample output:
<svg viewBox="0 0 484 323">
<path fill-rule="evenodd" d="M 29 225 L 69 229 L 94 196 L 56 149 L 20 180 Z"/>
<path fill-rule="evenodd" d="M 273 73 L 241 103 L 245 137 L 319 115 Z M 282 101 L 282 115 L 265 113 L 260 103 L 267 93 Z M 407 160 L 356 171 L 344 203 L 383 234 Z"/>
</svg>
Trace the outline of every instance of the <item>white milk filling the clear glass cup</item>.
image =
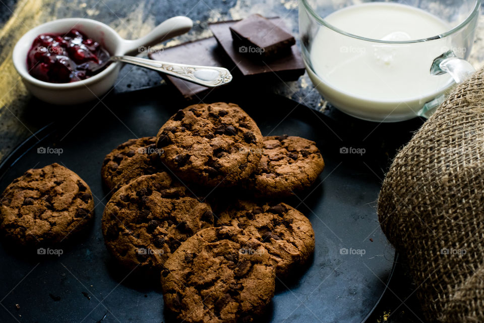
<svg viewBox="0 0 484 323">
<path fill-rule="evenodd" d="M 347 7 L 325 20 L 347 33 L 380 40 L 416 40 L 450 30 L 429 13 L 392 3 Z M 405 115 L 409 119 L 409 113 L 414 115 L 453 85 L 448 74 L 430 74 L 434 59 L 449 49 L 448 39 L 386 44 L 322 27 L 310 52 L 317 76 L 310 69 L 309 74 L 326 99 L 348 114 L 379 121 L 401 120 Z"/>
</svg>

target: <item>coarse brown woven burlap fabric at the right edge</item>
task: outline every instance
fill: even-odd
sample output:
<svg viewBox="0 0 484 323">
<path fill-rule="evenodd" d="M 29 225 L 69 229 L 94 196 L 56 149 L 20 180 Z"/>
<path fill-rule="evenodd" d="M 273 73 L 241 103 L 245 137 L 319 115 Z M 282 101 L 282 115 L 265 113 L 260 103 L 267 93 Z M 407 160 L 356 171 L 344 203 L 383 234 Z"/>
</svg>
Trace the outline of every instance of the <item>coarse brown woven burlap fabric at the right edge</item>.
<svg viewBox="0 0 484 323">
<path fill-rule="evenodd" d="M 427 320 L 484 322 L 484 70 L 395 157 L 378 215 Z"/>
</svg>

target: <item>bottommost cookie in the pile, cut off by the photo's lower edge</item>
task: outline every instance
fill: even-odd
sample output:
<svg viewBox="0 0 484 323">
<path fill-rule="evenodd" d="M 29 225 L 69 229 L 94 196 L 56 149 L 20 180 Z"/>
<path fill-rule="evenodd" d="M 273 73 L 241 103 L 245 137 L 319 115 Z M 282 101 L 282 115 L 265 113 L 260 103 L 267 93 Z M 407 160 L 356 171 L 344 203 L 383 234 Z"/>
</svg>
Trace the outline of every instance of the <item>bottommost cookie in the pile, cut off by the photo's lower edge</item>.
<svg viewBox="0 0 484 323">
<path fill-rule="evenodd" d="M 188 323 L 257 321 L 274 295 L 274 267 L 267 250 L 235 227 L 199 231 L 165 267 L 165 305 Z"/>
</svg>

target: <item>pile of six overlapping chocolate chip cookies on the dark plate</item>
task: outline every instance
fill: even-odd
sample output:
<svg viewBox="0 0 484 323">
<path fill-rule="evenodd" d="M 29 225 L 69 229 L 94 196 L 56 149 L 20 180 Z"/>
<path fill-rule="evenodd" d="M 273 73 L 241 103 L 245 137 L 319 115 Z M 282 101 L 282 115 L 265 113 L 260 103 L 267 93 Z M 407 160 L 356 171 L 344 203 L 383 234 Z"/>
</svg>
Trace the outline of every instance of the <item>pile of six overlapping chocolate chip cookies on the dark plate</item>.
<svg viewBox="0 0 484 323">
<path fill-rule="evenodd" d="M 106 156 L 102 177 L 114 192 L 102 218 L 107 249 L 128 270 L 161 277 L 165 305 L 180 320 L 253 321 L 276 280 L 314 251 L 310 221 L 277 199 L 310 187 L 323 168 L 314 142 L 263 137 L 236 104 L 191 105 L 156 137 Z"/>
</svg>

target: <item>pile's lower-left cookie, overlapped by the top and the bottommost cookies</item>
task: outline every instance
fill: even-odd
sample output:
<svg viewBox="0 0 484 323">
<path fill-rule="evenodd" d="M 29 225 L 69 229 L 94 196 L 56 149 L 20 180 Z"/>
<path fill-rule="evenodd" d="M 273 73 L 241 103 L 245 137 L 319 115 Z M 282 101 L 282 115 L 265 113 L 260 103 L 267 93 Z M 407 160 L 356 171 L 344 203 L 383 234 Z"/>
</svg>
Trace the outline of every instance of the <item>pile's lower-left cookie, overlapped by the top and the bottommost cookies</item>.
<svg viewBox="0 0 484 323">
<path fill-rule="evenodd" d="M 102 233 L 107 249 L 129 270 L 159 275 L 181 242 L 213 222 L 208 204 L 188 197 L 185 187 L 162 172 L 114 193 L 104 209 Z"/>
</svg>

